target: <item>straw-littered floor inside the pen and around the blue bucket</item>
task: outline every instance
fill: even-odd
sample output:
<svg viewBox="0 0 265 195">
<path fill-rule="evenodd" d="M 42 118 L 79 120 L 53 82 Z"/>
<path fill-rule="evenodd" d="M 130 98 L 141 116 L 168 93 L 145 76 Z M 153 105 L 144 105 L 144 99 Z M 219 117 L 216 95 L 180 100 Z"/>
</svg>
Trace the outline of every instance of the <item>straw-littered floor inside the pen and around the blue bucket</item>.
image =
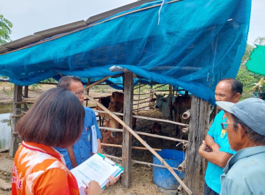
<svg viewBox="0 0 265 195">
<path fill-rule="evenodd" d="M 139 111 L 139 116 L 149 116 L 153 118 L 162 118 L 162 114 L 160 111 L 155 109 L 153 110 L 143 110 Z M 172 130 L 174 128 L 173 125 L 169 123 L 161 123 L 162 124 L 162 135 L 169 136 L 172 134 Z M 137 118 L 136 120 L 136 131 L 140 132 L 150 132 L 151 125 L 153 125 L 153 121 L 144 120 Z M 179 147 L 176 147 L 176 142 L 169 141 L 165 139 L 158 139 L 148 136 L 140 136 L 142 139 L 146 141 L 152 148 L 170 148 L 174 150 L 182 150 L 182 144 Z M 142 143 L 139 143 L 137 139 L 132 137 L 132 146 L 142 146 Z M 113 155 L 113 150 L 110 152 L 110 148 L 105 150 L 105 153 L 109 155 Z M 121 157 L 121 148 L 116 148 L 119 150 L 119 155 L 117 157 Z M 149 152 L 149 150 L 132 150 L 132 159 L 136 159 L 143 162 L 153 162 L 153 155 Z M 121 165 L 121 161 L 117 159 L 112 159 L 117 164 Z M 148 165 L 136 164 L 132 163 L 132 182 L 130 187 L 127 189 L 121 185 L 121 179 L 114 186 L 105 189 L 103 194 L 109 195 L 119 195 L 119 194 L 128 194 L 128 195 L 153 195 L 153 194 L 165 194 L 164 192 L 160 192 L 158 186 L 153 182 L 153 168 Z"/>
</svg>

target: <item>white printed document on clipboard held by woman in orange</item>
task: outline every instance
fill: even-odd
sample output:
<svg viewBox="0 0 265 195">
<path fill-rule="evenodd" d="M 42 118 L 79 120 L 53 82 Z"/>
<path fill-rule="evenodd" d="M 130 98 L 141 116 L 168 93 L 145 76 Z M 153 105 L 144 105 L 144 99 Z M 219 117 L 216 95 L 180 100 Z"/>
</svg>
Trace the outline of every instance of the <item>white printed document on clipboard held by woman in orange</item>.
<svg viewBox="0 0 265 195">
<path fill-rule="evenodd" d="M 106 183 L 109 181 L 108 178 L 110 176 L 118 177 L 123 172 L 123 167 L 104 155 L 97 153 L 70 171 L 77 179 L 80 194 L 85 194 L 84 189 L 86 186 L 83 181 L 88 184 L 95 180 L 102 189 L 105 189 Z"/>
</svg>

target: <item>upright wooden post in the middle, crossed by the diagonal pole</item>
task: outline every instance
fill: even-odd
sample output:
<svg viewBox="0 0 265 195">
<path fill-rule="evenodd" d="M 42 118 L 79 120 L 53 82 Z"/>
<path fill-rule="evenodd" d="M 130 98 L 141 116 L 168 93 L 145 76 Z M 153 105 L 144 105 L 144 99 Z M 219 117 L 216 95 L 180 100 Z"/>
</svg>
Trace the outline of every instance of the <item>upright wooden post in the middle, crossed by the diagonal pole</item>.
<svg viewBox="0 0 265 195">
<path fill-rule="evenodd" d="M 129 127 L 132 127 L 132 102 L 133 102 L 133 79 L 132 72 L 125 72 L 124 76 L 124 106 L 123 121 Z M 122 166 L 124 168 L 121 184 L 129 187 L 131 182 L 131 156 L 132 156 L 132 134 L 123 127 L 122 143 Z"/>
</svg>

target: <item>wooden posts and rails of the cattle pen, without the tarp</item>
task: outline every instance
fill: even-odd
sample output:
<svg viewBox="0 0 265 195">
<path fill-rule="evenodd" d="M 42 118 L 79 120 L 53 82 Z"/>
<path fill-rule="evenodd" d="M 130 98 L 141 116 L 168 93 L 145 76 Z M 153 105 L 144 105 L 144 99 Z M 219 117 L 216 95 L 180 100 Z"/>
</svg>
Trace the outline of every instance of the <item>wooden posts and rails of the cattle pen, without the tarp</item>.
<svg viewBox="0 0 265 195">
<path fill-rule="evenodd" d="M 164 164 L 164 168 L 166 169 L 169 169 L 169 171 L 174 175 L 174 177 L 176 178 L 176 180 L 178 180 L 178 182 L 180 183 L 180 186 L 179 188 L 177 189 L 178 192 L 181 192 L 183 189 L 185 191 L 188 191 L 188 194 L 191 194 L 191 192 L 189 191 L 188 187 L 185 185 L 185 180 L 181 180 L 179 178 L 179 176 L 176 175 L 176 173 L 174 172 L 174 170 L 176 171 L 184 171 L 185 170 L 185 178 L 194 178 L 195 177 L 195 169 L 194 167 L 198 166 L 198 164 L 195 164 L 197 162 L 197 159 L 195 159 L 195 155 L 190 155 L 190 159 L 189 159 L 189 153 L 192 153 L 195 151 L 189 151 L 189 147 L 190 149 L 192 149 L 192 144 L 194 143 L 190 143 L 190 140 L 195 140 L 195 139 L 203 139 L 204 137 L 204 129 L 206 130 L 208 127 L 203 127 L 202 126 L 200 127 L 201 130 L 202 130 L 202 134 L 200 136 L 197 135 L 197 132 L 196 133 L 193 133 L 192 134 L 192 129 L 190 128 L 190 126 L 194 126 L 195 128 L 197 128 L 197 125 L 202 125 L 202 124 L 209 124 L 209 117 L 208 117 L 208 121 L 207 120 L 207 116 L 209 116 L 211 114 L 211 112 L 208 112 L 208 114 L 206 113 L 207 111 L 207 105 L 209 107 L 210 104 L 206 104 L 206 102 L 204 102 L 204 108 L 199 108 L 197 107 L 197 109 L 200 111 L 199 114 L 201 114 L 201 120 L 204 120 L 204 123 L 202 122 L 197 122 L 197 119 L 195 119 L 195 121 L 197 122 L 197 125 L 191 125 L 192 124 L 192 115 L 193 113 L 198 113 L 198 111 L 193 111 L 193 108 L 194 107 L 191 107 L 190 109 L 190 113 L 191 113 L 191 116 L 190 116 L 190 124 L 184 124 L 184 123 L 178 123 L 178 122 L 175 122 L 173 120 L 167 120 L 167 119 L 162 119 L 162 118 L 152 118 L 152 117 L 149 117 L 149 116 L 137 116 L 137 115 L 132 115 L 132 111 L 135 110 L 135 111 L 139 111 L 141 109 L 149 109 L 149 107 L 153 107 L 153 104 L 152 102 L 150 103 L 150 100 L 153 99 L 153 94 L 154 93 L 159 93 L 159 92 L 162 92 L 162 93 L 167 93 L 169 96 L 172 96 L 173 94 L 177 94 L 177 90 L 172 92 L 172 87 L 169 86 L 169 90 L 159 90 L 158 88 L 163 86 L 163 85 L 158 85 L 156 86 L 155 88 L 153 88 L 153 84 L 151 83 L 151 87 L 149 90 L 149 93 L 144 93 L 144 94 L 141 94 L 141 91 L 139 90 L 141 87 L 143 87 L 143 85 L 146 85 L 146 84 L 143 84 L 141 86 L 141 84 L 139 84 L 136 88 L 134 88 L 133 86 L 130 86 L 130 97 L 137 97 L 135 98 L 134 101 L 137 101 L 137 104 L 133 105 L 133 100 L 131 99 L 130 102 L 126 102 L 126 75 L 130 75 L 131 79 L 132 79 L 132 73 L 131 72 L 125 72 L 125 74 L 123 75 L 123 78 L 124 78 L 124 88 L 125 90 L 123 91 L 124 92 L 124 112 L 123 114 L 122 113 L 119 113 L 119 112 L 111 112 L 109 111 L 106 107 L 103 106 L 103 104 L 100 104 L 98 101 L 96 101 L 97 99 L 100 99 L 100 98 L 92 98 L 90 95 L 89 95 L 89 88 L 91 88 L 92 86 L 96 86 L 96 84 L 100 83 L 100 82 L 104 82 L 104 79 L 100 79 L 100 82 L 95 82 L 94 84 L 89 84 L 88 86 L 86 86 L 86 98 L 87 98 L 87 101 L 86 101 L 86 105 L 88 105 L 88 100 L 90 102 L 93 102 L 93 104 L 96 104 L 97 106 L 99 106 L 101 108 L 101 110 L 96 110 L 96 106 L 91 106 L 91 108 L 94 109 L 94 111 L 98 112 L 98 114 L 100 113 L 104 113 L 104 114 L 109 114 L 110 116 L 114 117 L 119 123 L 121 123 L 121 125 L 123 125 L 123 130 L 121 129 L 114 129 L 114 128 L 110 128 L 110 127 L 100 127 L 100 130 L 108 130 L 108 131 L 112 131 L 112 132 L 123 132 L 123 140 L 126 140 L 126 141 L 123 141 L 122 142 L 122 145 L 114 145 L 114 144 L 105 144 L 105 143 L 102 143 L 103 146 L 107 146 L 107 147 L 121 147 L 122 148 L 122 157 L 115 157 L 113 155 L 107 155 L 107 157 L 111 157 L 111 158 L 114 158 L 114 159 L 121 159 L 122 160 L 122 166 L 125 168 L 125 173 L 123 173 L 123 182 L 127 182 L 127 186 L 130 185 L 130 164 L 132 162 L 134 163 L 137 163 L 137 164 L 146 164 L 146 165 L 149 165 L 149 166 L 159 166 L 161 167 L 160 165 L 157 165 L 157 164 L 153 164 L 151 162 L 143 162 L 143 161 L 139 161 L 139 160 L 135 160 L 135 159 L 131 159 L 131 154 L 132 154 L 132 149 L 136 149 L 136 150 L 149 150 L 153 155 L 155 155 L 156 157 L 158 157 L 158 159 L 160 159 L 160 161 L 162 162 L 162 164 Z M 107 78 L 105 78 L 107 79 Z M 132 81 L 132 80 L 131 80 Z M 131 81 L 129 82 L 129 84 L 131 83 Z M 27 109 L 29 109 L 29 104 L 30 103 L 33 103 L 34 100 L 31 99 L 31 98 L 28 98 L 27 97 L 27 91 L 28 91 L 28 87 L 25 86 L 24 87 L 24 94 L 22 94 L 22 86 L 15 86 L 15 91 L 14 91 L 14 98 L 16 98 L 15 102 L 14 102 L 14 105 L 13 105 L 13 115 L 12 115 L 12 120 L 13 120 L 13 124 L 15 124 L 17 122 L 17 120 L 23 116 L 24 113 L 27 112 Z M 134 90 L 139 90 L 138 93 L 136 93 L 135 95 L 133 95 L 133 92 Z M 156 90 L 157 89 L 157 90 Z M 127 90 L 128 91 L 128 90 Z M 127 92 L 129 93 L 129 92 Z M 147 104 L 147 105 L 144 105 L 143 107 L 139 107 L 139 101 L 141 100 L 147 100 L 146 98 L 141 98 L 141 95 L 147 95 L 149 96 L 147 99 L 149 99 L 148 101 L 144 101 L 144 104 Z M 196 97 L 192 97 L 192 102 L 194 102 L 194 99 L 196 99 Z M 193 103 L 194 104 L 194 103 Z M 197 104 L 197 103 L 196 103 Z M 129 111 L 129 114 L 127 114 L 127 117 L 129 116 L 130 118 L 128 118 L 127 120 L 129 120 L 129 123 L 126 123 L 126 122 L 123 122 L 123 121 L 126 121 L 126 105 L 130 105 L 130 111 Z M 136 109 L 133 109 L 133 106 L 137 107 Z M 196 105 L 195 105 L 196 106 Z M 210 109 L 212 111 L 212 109 Z M 123 116 L 123 120 L 121 120 L 119 117 L 117 116 Z M 170 116 L 172 117 L 172 116 Z M 195 118 L 198 118 L 199 116 L 195 116 Z M 189 135 L 188 135 L 188 140 L 185 140 L 185 139 L 178 139 L 178 138 L 175 138 L 175 137 L 172 137 L 172 134 L 169 134 L 169 136 L 164 136 L 164 135 L 159 135 L 159 134 L 151 134 L 151 133 L 148 133 L 148 132 L 139 132 L 139 131 L 134 131 L 131 129 L 131 121 L 132 121 L 132 118 L 138 118 L 138 119 L 142 119 L 142 120 L 151 120 L 151 121 L 156 121 L 156 122 L 160 122 L 160 123 L 168 123 L 169 125 L 181 125 L 183 127 L 188 127 L 188 130 L 189 130 Z M 193 119 L 194 120 L 194 119 Z M 15 126 L 13 126 L 15 127 Z M 18 146 L 18 135 L 17 135 L 17 132 L 14 132 L 15 130 L 13 130 L 13 134 L 12 134 L 12 138 L 13 138 L 13 141 L 11 142 L 13 145 L 10 146 L 10 155 L 12 155 L 12 153 L 15 152 L 15 148 Z M 128 135 L 126 135 L 128 134 Z M 142 143 L 142 145 L 144 147 L 137 147 L 137 146 L 132 146 L 132 143 L 128 143 L 131 142 L 132 140 L 132 135 L 134 137 L 137 138 L 137 140 L 139 140 L 140 143 Z M 170 140 L 170 141 L 174 141 L 174 142 L 177 142 L 179 144 L 182 145 L 182 149 L 183 151 L 186 150 L 186 157 L 185 157 L 185 160 L 183 161 L 182 164 L 179 165 L 179 167 L 177 168 L 172 168 L 170 167 L 167 162 L 165 162 L 164 159 L 162 159 L 157 153 L 156 151 L 160 150 L 160 148 L 151 148 L 147 143 L 146 141 L 144 141 L 141 137 L 139 137 L 139 135 L 144 135 L 144 136 L 148 136 L 148 137 L 153 137 L 153 138 L 156 138 L 156 139 L 165 139 L 165 140 Z M 190 136 L 195 136 L 196 137 L 190 137 Z M 126 136 L 128 136 L 129 138 L 125 138 Z M 15 140 L 15 141 L 14 141 Z M 15 144 L 14 144 L 15 143 Z M 198 142 L 199 143 L 199 142 Z M 179 145 L 177 144 L 177 146 Z M 199 146 L 199 145 L 198 145 Z M 192 165 L 190 165 L 192 164 Z M 190 167 L 191 169 L 191 173 L 188 172 L 188 167 Z M 188 175 L 189 174 L 189 175 Z M 126 175 L 127 175 L 127 178 L 126 178 Z M 198 173 L 198 176 L 199 178 L 199 173 Z M 190 179 L 189 179 L 190 180 Z M 188 181 L 188 179 L 187 179 Z"/>
</svg>

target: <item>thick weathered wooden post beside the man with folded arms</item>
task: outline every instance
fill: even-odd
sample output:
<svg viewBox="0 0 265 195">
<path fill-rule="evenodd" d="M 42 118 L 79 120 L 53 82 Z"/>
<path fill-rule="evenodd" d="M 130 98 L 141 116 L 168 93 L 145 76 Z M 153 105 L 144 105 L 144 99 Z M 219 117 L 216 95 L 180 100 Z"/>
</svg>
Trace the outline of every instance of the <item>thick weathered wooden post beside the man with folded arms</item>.
<svg viewBox="0 0 265 195">
<path fill-rule="evenodd" d="M 192 194 L 199 194 L 199 172 L 202 157 L 199 155 L 198 150 L 204 139 L 206 104 L 206 101 L 192 95 L 184 176 L 184 183 L 191 190 Z"/>
</svg>

